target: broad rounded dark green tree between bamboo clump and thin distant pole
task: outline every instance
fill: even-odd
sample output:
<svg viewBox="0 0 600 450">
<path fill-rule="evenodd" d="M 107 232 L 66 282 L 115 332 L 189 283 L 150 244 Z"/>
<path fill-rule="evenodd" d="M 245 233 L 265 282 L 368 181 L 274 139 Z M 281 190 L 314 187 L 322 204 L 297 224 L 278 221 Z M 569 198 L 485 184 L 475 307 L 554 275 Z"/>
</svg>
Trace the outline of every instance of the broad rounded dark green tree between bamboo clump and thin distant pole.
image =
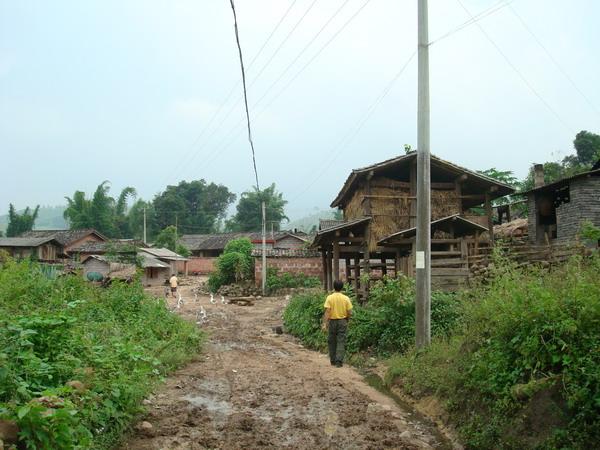
<svg viewBox="0 0 600 450">
<path fill-rule="evenodd" d="M 234 201 L 235 194 L 223 185 L 182 181 L 154 198 L 153 227 L 162 230 L 177 223 L 183 233 L 213 233 Z"/>
</svg>

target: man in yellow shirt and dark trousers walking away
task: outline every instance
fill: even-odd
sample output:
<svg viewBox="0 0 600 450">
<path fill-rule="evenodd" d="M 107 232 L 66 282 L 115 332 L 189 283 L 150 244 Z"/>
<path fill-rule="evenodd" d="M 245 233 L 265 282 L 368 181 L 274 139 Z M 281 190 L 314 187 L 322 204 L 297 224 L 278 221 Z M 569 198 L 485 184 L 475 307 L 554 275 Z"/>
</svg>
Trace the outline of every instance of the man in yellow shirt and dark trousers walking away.
<svg viewBox="0 0 600 450">
<path fill-rule="evenodd" d="M 347 295 L 342 294 L 344 283 L 333 282 L 335 292 L 325 300 L 325 315 L 323 329 L 329 329 L 329 360 L 332 366 L 342 367 L 346 350 L 346 331 L 348 320 L 352 316 L 352 302 Z"/>
</svg>

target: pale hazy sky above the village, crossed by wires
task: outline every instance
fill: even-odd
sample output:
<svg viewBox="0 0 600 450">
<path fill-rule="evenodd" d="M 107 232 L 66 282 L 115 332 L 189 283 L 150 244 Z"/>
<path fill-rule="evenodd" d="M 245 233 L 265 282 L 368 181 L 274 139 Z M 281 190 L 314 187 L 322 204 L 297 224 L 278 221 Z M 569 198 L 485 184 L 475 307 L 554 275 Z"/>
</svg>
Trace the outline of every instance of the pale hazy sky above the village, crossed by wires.
<svg viewBox="0 0 600 450">
<path fill-rule="evenodd" d="M 313 59 L 365 1 L 236 2 L 260 182 L 292 218 L 326 207 L 352 168 L 416 146 L 416 58 L 369 109 L 416 49 L 416 0 L 367 2 Z M 469 19 L 459 0 L 429 12 L 432 41 Z M 570 153 L 578 130 L 600 132 L 598 17 L 594 0 L 514 0 L 483 18 L 521 75 L 477 25 L 432 45 L 432 152 L 522 177 Z M 229 0 L 0 0 L 0 212 L 103 180 L 146 199 L 182 179 L 247 190 L 239 80 Z"/>
</svg>

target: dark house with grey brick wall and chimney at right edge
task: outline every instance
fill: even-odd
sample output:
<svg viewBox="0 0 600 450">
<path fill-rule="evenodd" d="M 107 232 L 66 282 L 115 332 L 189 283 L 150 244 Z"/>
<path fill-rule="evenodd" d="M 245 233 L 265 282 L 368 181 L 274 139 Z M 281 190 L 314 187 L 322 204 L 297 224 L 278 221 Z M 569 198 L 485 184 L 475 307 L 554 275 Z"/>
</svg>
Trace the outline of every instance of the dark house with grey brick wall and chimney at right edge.
<svg viewBox="0 0 600 450">
<path fill-rule="evenodd" d="M 549 184 L 544 184 L 544 166 L 536 164 L 534 186 L 524 192 L 532 243 L 575 242 L 585 220 L 600 226 L 600 160 L 588 172 Z"/>
</svg>

